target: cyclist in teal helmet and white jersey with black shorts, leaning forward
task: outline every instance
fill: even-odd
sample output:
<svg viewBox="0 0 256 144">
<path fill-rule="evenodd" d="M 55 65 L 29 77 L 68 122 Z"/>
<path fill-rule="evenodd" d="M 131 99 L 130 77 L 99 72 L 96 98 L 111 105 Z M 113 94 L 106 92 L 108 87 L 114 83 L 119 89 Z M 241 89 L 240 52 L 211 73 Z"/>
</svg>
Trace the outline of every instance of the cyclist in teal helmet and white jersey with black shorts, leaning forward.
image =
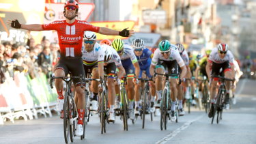
<svg viewBox="0 0 256 144">
<path fill-rule="evenodd" d="M 175 104 L 177 98 L 176 85 L 182 83 L 182 79 L 186 76 L 186 66 L 182 57 L 180 57 L 179 51 L 174 44 L 171 44 L 168 40 L 162 40 L 158 44 L 158 49 L 156 49 L 154 56 L 152 58 L 152 63 L 150 66 L 150 74 L 153 76 L 156 69 L 157 73 L 164 74 L 179 74 L 179 66 L 182 70 L 179 79 L 170 79 L 170 89 L 173 94 L 171 94 L 171 121 L 175 121 Z M 156 90 L 158 93 L 158 107 L 160 105 L 160 99 L 162 95 L 163 83 L 162 76 L 157 76 L 158 81 L 156 81 Z M 156 104 L 156 105 L 157 105 Z"/>
</svg>

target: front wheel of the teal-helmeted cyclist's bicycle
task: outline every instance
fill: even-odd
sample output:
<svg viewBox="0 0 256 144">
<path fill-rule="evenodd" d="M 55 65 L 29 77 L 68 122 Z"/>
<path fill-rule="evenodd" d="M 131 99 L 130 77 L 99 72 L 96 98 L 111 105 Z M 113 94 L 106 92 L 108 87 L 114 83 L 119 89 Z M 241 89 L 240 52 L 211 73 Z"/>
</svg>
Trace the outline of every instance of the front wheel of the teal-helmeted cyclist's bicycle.
<svg viewBox="0 0 256 144">
<path fill-rule="evenodd" d="M 162 130 L 165 127 L 166 130 L 166 98 L 167 98 L 167 89 L 162 93 L 162 101 L 160 105 L 160 129 Z"/>
</svg>

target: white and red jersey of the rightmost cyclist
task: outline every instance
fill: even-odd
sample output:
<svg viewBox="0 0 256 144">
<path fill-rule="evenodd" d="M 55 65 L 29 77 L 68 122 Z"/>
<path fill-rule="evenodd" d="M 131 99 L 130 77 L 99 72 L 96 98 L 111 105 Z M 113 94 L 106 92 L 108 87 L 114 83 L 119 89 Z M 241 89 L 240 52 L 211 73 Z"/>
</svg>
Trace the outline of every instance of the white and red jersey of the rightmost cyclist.
<svg viewBox="0 0 256 144">
<path fill-rule="evenodd" d="M 214 63 L 225 63 L 225 61 L 229 61 L 230 64 L 233 64 L 234 59 L 231 51 L 227 51 L 225 57 L 221 59 L 221 57 L 218 55 L 218 48 L 213 48 L 208 61 L 210 63 L 212 63 L 212 61 Z"/>
</svg>

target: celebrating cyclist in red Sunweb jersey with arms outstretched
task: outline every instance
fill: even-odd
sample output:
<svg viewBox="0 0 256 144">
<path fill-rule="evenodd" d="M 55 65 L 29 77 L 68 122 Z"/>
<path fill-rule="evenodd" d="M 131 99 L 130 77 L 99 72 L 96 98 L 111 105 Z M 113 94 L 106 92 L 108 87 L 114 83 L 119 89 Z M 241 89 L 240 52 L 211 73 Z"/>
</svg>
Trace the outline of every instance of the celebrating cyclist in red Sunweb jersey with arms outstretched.
<svg viewBox="0 0 256 144">
<path fill-rule="evenodd" d="M 58 33 L 61 57 L 55 67 L 55 76 L 66 76 L 69 72 L 72 76 L 81 76 L 84 74 L 82 56 L 82 44 L 84 31 L 95 31 L 104 35 L 132 35 L 132 31 L 124 29 L 115 31 L 106 27 L 96 27 L 85 20 L 77 20 L 79 4 L 74 0 L 69 0 L 64 4 L 63 14 L 66 20 L 56 20 L 49 24 L 31 24 L 23 25 L 18 20 L 8 20 L 10 27 L 16 29 L 27 29 L 29 31 L 48 31 L 55 30 Z M 78 98 L 77 109 L 79 110 L 79 121 L 76 127 L 76 136 L 83 134 L 83 117 L 85 107 L 84 89 L 80 87 L 79 79 L 74 79 L 76 96 Z M 63 83 L 61 79 L 56 79 L 55 87 L 58 93 L 57 109 L 60 111 L 63 107 Z"/>
</svg>

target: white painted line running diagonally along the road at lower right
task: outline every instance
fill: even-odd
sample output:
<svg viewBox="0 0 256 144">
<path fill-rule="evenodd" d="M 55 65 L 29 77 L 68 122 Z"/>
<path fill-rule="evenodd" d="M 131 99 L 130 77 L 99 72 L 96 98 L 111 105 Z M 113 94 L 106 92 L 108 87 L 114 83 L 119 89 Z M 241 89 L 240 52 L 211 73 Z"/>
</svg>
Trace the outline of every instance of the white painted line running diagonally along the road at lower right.
<svg viewBox="0 0 256 144">
<path fill-rule="evenodd" d="M 165 136 L 164 138 L 160 139 L 159 141 L 156 142 L 156 144 L 163 144 L 163 143 L 167 143 L 168 141 L 170 141 L 171 139 L 173 139 L 173 137 L 175 137 L 178 133 L 182 132 L 182 130 L 185 130 L 186 128 L 188 128 L 188 126 L 190 126 L 191 124 L 193 124 L 193 122 L 201 119 L 204 115 L 200 115 L 199 117 L 191 120 L 191 121 L 187 121 L 184 125 L 182 125 L 180 128 L 177 128 L 176 130 L 174 130 L 173 132 L 171 132 L 170 134 L 168 134 L 167 136 Z"/>
</svg>

